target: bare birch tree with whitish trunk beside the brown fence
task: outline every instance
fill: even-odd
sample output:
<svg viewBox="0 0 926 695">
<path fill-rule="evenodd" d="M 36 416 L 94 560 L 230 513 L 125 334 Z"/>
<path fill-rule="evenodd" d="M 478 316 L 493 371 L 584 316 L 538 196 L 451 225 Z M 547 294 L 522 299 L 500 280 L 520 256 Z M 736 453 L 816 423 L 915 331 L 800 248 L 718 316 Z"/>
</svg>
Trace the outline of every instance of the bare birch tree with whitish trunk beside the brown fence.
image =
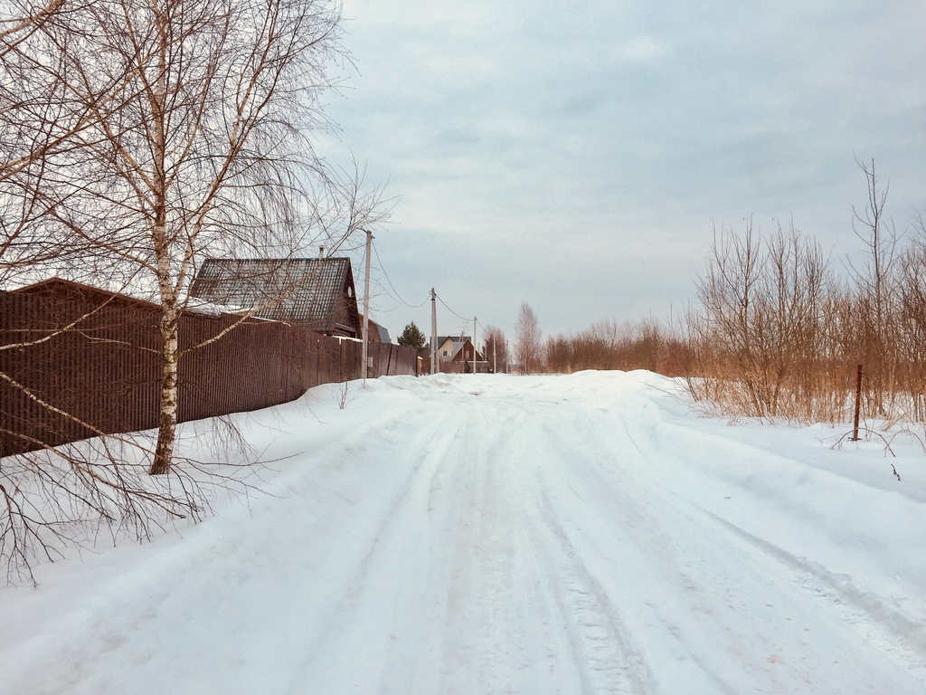
<svg viewBox="0 0 926 695">
<path fill-rule="evenodd" d="M 173 472 L 178 324 L 203 259 L 336 249 L 382 219 L 380 190 L 365 190 L 359 168 L 332 167 L 314 146 L 313 133 L 331 125 L 322 110 L 337 86 L 328 70 L 346 59 L 334 0 L 2 0 L 0 284 L 54 274 L 154 299 L 162 377 L 153 446 L 121 437 L 0 469 L 0 560 L 16 554 L 7 531 L 28 507 L 17 495 L 42 498 L 52 470 L 83 472 L 101 489 L 140 465 Z M 40 339 L 73 330 L 79 321 Z M 110 495 L 116 512 L 104 514 L 93 498 L 45 517 L 59 527 L 68 505 L 81 519 L 116 519 L 126 508 Z M 184 491 L 181 507 L 189 500 Z"/>
</svg>

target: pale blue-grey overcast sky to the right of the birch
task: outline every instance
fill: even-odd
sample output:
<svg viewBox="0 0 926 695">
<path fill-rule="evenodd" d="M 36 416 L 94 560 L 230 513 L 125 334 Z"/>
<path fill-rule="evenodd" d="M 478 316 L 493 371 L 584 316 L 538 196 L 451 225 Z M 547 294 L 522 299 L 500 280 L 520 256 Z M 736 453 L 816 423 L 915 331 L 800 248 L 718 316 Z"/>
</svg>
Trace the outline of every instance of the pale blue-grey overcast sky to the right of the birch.
<svg viewBox="0 0 926 695">
<path fill-rule="evenodd" d="M 898 229 L 926 212 L 922 0 L 344 0 L 344 19 L 357 70 L 321 147 L 395 198 L 371 273 L 393 338 L 430 332 L 403 302 L 432 286 L 509 337 L 522 301 L 544 335 L 669 319 L 715 225 L 750 214 L 793 217 L 838 265 L 856 157 Z M 438 305 L 439 333 L 462 325 Z"/>
</svg>

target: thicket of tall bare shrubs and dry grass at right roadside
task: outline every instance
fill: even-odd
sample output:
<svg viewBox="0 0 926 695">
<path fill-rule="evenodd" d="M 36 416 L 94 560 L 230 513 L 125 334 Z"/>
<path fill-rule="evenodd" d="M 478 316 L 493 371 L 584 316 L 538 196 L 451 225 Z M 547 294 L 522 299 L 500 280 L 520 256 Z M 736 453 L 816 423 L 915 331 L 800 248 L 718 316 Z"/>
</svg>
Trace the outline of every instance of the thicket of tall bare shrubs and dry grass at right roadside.
<svg viewBox="0 0 926 695">
<path fill-rule="evenodd" d="M 747 221 L 715 236 L 687 322 L 695 398 L 732 414 L 845 422 L 861 364 L 865 415 L 926 419 L 926 227 L 902 239 L 874 162 L 859 166 L 860 260 L 834 263 L 793 224 L 760 234 Z"/>
</svg>

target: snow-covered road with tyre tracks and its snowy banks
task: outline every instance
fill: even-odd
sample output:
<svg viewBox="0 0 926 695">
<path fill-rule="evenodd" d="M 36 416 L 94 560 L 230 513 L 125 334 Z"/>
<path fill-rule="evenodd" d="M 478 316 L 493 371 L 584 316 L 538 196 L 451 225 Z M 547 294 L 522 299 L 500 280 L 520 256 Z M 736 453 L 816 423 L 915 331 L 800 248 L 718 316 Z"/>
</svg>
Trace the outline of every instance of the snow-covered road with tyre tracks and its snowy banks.
<svg viewBox="0 0 926 695">
<path fill-rule="evenodd" d="M 268 494 L 0 588 L 0 693 L 926 692 L 912 436 L 731 426 L 642 372 L 340 398 L 241 417 L 289 457 Z"/>
</svg>

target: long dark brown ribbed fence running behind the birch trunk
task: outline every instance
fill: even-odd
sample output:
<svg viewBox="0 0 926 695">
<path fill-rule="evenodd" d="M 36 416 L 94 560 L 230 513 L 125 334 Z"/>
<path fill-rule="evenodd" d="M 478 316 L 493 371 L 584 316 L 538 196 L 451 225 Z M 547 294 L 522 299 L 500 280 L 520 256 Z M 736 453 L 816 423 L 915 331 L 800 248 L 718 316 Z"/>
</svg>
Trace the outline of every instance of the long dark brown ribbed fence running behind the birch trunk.
<svg viewBox="0 0 926 695">
<path fill-rule="evenodd" d="M 117 296 L 119 297 L 119 296 Z M 0 456 L 157 425 L 159 312 L 119 297 L 0 292 Z M 362 346 L 281 322 L 181 317 L 179 420 L 253 411 L 360 377 Z M 408 347 L 369 346 L 370 376 L 415 374 Z M 80 421 L 80 422 L 78 422 Z"/>
</svg>

